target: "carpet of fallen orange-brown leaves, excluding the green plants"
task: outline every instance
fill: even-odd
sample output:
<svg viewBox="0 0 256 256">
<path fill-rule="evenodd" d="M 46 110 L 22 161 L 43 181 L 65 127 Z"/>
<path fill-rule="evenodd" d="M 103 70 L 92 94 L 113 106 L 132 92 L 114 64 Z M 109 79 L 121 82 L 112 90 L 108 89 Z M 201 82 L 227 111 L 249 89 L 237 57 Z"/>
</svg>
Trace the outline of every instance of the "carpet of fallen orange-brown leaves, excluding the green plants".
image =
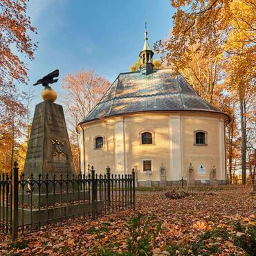
<svg viewBox="0 0 256 256">
<path fill-rule="evenodd" d="M 48 230 L 40 230 L 19 238 L 19 244 L 13 246 L 0 237 L 0 255 L 97 255 L 101 252 L 122 255 L 127 251 L 127 239 L 131 237 L 127 222 L 138 212 L 161 225 L 161 230 L 152 244 L 154 255 L 192 255 L 199 238 L 204 239 L 205 250 L 220 248 L 218 255 L 244 255 L 244 250 L 228 240 L 223 230 L 234 231 L 232 222 L 241 221 L 244 225 L 254 223 L 255 199 L 250 196 L 250 188 L 243 186 L 219 190 L 217 194 L 199 192 L 182 199 L 169 199 L 163 193 L 138 194 L 136 212 L 126 210 L 100 217 L 95 221 L 77 221 L 65 223 Z M 234 207 L 235 206 L 235 207 Z M 154 231 L 154 226 L 149 226 Z M 202 238 L 203 237 L 203 238 Z M 140 239 L 139 239 L 140 240 Z M 171 244 L 187 246 L 181 253 L 174 246 L 174 254 L 166 248 Z M 212 253 L 214 255 L 215 253 Z M 100 255 L 100 254 L 98 254 Z M 216 254 L 215 254 L 216 255 Z"/>
</svg>

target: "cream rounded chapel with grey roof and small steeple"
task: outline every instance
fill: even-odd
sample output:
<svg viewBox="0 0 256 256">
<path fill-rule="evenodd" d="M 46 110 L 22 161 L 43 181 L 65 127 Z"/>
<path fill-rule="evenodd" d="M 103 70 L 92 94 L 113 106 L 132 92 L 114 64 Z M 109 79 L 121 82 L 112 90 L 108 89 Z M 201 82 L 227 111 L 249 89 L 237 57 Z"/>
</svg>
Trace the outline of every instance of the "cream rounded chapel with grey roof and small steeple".
<svg viewBox="0 0 256 256">
<path fill-rule="evenodd" d="M 185 77 L 172 69 L 154 69 L 147 42 L 140 51 L 140 71 L 120 73 L 100 102 L 80 122 L 81 169 L 130 174 L 139 186 L 148 179 L 166 185 L 193 176 L 195 184 L 226 183 L 225 127 L 230 117 L 203 100 Z M 191 164 L 191 165 L 190 165 Z M 190 168 L 189 168 L 190 166 Z M 190 170 L 193 170 L 190 173 Z"/>
</svg>

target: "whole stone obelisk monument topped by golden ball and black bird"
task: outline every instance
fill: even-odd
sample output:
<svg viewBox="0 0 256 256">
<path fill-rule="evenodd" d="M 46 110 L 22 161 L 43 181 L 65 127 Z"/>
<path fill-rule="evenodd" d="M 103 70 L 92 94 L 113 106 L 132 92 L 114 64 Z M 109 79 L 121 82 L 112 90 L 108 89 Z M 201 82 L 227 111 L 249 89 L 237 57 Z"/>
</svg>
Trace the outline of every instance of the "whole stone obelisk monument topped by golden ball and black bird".
<svg viewBox="0 0 256 256">
<path fill-rule="evenodd" d="M 60 104 L 54 103 L 57 93 L 48 85 L 57 82 L 54 77 L 58 75 L 59 71 L 55 70 L 34 84 L 42 84 L 45 87 L 42 91 L 44 101 L 35 107 L 24 165 L 24 179 L 30 182 L 33 179 L 37 182 L 33 187 L 28 183 L 26 188 L 20 190 L 19 194 L 19 201 L 22 201 L 24 205 L 29 205 L 29 208 L 24 208 L 22 213 L 24 223 L 33 222 L 32 225 L 48 221 L 48 217 L 50 219 L 68 217 L 71 214 L 81 214 L 90 210 L 90 205 L 87 203 L 89 199 L 87 190 L 80 190 L 78 185 L 73 185 L 73 188 L 68 190 L 65 183 L 62 186 L 60 183 L 54 182 L 60 181 L 61 174 L 62 181 L 72 180 L 73 176 L 75 178 L 64 111 Z M 31 174 L 33 176 L 30 176 Z M 46 182 L 47 179 L 48 182 Z M 84 203 L 75 203 L 82 199 Z M 71 205 L 68 204 L 70 202 L 72 202 Z M 67 203 L 66 210 L 63 210 L 62 203 Z M 96 204 L 98 209 L 102 208 L 102 202 Z M 30 210 L 30 205 L 33 206 L 33 211 Z M 21 210 L 19 211 L 21 212 Z"/>
</svg>

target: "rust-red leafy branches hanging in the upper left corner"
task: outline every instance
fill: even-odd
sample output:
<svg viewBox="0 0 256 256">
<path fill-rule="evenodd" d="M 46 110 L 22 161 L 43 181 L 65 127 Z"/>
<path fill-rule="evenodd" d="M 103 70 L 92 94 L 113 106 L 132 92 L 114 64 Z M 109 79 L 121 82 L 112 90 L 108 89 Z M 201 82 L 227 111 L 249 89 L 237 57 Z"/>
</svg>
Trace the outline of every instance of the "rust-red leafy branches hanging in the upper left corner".
<svg viewBox="0 0 256 256">
<path fill-rule="evenodd" d="M 36 33 L 26 15 L 26 0 L 0 0 L 0 86 L 10 85 L 12 80 L 26 82 L 28 68 L 15 51 L 33 59 L 37 48 L 29 33 Z"/>
</svg>

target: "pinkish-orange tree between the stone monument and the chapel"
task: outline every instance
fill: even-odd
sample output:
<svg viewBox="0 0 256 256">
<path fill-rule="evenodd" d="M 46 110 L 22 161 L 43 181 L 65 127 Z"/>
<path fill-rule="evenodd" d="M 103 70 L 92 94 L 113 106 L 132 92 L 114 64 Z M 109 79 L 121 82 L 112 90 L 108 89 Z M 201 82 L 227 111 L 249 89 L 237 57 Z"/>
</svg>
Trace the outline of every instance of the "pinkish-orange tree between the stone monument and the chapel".
<svg viewBox="0 0 256 256">
<path fill-rule="evenodd" d="M 62 88 L 65 90 L 64 95 L 62 95 L 62 102 L 66 109 L 66 120 L 76 170 L 80 169 L 80 161 L 76 159 L 80 156 L 79 137 L 76 133 L 77 124 L 95 107 L 109 86 L 108 80 L 95 74 L 92 70 L 68 74 L 62 80 Z"/>
</svg>

